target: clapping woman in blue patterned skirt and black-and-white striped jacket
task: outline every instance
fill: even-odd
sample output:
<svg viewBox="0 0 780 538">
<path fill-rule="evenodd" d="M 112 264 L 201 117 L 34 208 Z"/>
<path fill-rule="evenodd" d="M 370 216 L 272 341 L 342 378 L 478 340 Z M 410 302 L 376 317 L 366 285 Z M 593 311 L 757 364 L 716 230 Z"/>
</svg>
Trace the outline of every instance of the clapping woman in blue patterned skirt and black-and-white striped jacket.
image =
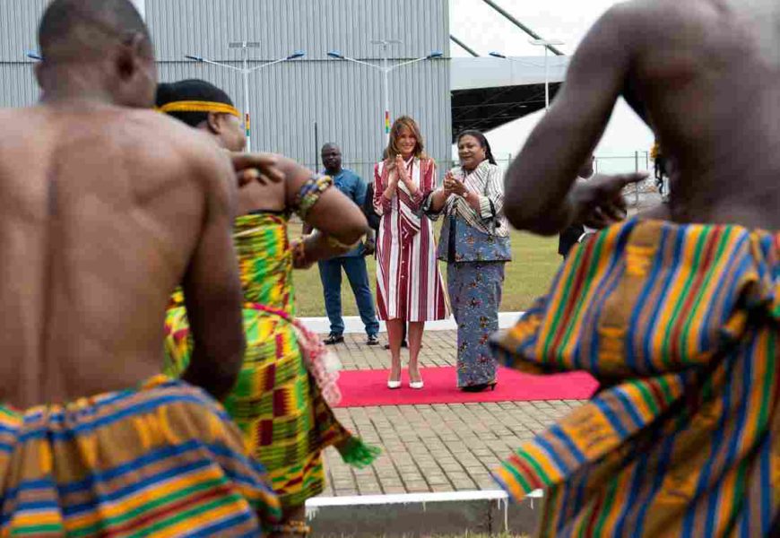
<svg viewBox="0 0 780 538">
<path fill-rule="evenodd" d="M 504 182 L 485 135 L 464 131 L 457 145 L 461 166 L 446 173 L 425 210 L 432 219 L 446 217 L 437 255 L 447 263 L 458 325 L 457 384 L 479 392 L 497 382 L 488 338 L 498 330 L 504 264 L 511 260 L 509 225 L 502 213 Z"/>
</svg>

